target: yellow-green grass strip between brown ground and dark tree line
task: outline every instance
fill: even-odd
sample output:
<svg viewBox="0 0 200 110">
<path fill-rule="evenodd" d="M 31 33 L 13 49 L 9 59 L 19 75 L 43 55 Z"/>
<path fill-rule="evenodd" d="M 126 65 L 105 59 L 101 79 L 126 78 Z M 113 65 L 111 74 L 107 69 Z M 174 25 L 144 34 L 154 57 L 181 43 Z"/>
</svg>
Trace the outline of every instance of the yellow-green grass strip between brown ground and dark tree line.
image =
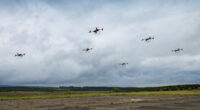
<svg viewBox="0 0 200 110">
<path fill-rule="evenodd" d="M 0 93 L 1 94 L 1 93 Z M 94 96 L 118 96 L 118 95 L 200 95 L 200 91 L 156 91 L 156 92 L 117 92 L 117 93 L 80 93 L 64 94 L 44 93 L 33 95 L 17 95 L 16 93 L 7 93 L 0 95 L 0 100 L 20 100 L 20 99 L 50 99 L 50 98 L 73 98 L 73 97 L 94 97 Z"/>
</svg>

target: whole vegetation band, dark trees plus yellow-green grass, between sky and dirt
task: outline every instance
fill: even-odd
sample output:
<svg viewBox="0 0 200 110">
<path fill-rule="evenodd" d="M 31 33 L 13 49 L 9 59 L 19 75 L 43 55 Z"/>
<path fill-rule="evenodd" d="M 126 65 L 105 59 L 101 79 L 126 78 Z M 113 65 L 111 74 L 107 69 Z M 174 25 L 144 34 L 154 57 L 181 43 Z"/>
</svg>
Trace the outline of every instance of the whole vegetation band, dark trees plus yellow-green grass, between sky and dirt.
<svg viewBox="0 0 200 110">
<path fill-rule="evenodd" d="M 200 95 L 200 85 L 163 87 L 0 87 L 0 100 L 115 95 Z"/>
</svg>

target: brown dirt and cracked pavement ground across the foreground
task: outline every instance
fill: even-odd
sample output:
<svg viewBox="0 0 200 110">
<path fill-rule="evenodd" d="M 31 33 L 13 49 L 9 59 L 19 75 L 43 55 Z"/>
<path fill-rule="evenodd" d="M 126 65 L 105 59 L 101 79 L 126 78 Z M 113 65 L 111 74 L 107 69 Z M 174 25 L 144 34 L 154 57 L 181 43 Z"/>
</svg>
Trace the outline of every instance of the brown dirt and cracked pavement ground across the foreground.
<svg viewBox="0 0 200 110">
<path fill-rule="evenodd" d="M 200 95 L 139 95 L 0 101 L 0 110 L 200 110 Z"/>
</svg>

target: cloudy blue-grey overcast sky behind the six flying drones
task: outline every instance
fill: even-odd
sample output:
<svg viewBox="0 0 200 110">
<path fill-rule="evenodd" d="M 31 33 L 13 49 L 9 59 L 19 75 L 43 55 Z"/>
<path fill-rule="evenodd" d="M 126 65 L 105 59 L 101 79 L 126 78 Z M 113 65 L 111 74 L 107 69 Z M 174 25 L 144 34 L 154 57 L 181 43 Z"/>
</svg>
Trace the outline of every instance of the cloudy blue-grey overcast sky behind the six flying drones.
<svg viewBox="0 0 200 110">
<path fill-rule="evenodd" d="M 104 30 L 88 33 L 95 27 Z M 155 39 L 141 41 L 148 36 Z M 87 47 L 93 50 L 82 51 Z M 176 48 L 183 51 L 171 52 Z M 0 1 L 0 85 L 194 83 L 200 84 L 198 0 Z"/>
</svg>

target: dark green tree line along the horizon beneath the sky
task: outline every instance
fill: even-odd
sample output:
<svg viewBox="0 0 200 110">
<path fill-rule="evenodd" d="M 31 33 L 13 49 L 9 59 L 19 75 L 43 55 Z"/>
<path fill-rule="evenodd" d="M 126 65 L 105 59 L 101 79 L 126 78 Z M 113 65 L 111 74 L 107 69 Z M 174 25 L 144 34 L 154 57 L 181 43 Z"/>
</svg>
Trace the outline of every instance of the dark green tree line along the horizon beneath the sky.
<svg viewBox="0 0 200 110">
<path fill-rule="evenodd" d="M 161 87 L 26 87 L 26 86 L 5 86 L 0 87 L 0 92 L 8 91 L 110 91 L 110 92 L 140 92 L 140 91 L 175 91 L 175 90 L 195 90 L 200 89 L 200 84 L 172 85 Z"/>
</svg>

